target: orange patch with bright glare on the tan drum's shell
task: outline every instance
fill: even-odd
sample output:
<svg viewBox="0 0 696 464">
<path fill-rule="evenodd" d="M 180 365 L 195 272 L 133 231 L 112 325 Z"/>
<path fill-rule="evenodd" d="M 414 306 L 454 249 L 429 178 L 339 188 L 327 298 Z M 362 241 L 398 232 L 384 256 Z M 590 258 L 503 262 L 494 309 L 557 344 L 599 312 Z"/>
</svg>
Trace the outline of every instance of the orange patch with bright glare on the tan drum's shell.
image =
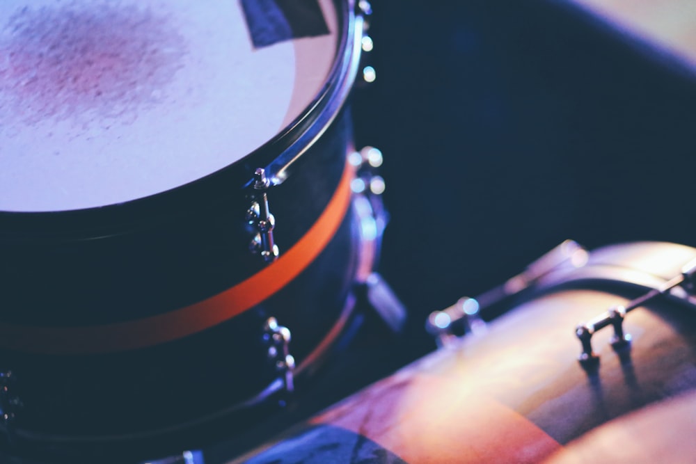
<svg viewBox="0 0 696 464">
<path fill-rule="evenodd" d="M 561 445 L 456 376 L 395 374 L 312 419 L 363 435 L 407 463 L 538 463 Z"/>
</svg>

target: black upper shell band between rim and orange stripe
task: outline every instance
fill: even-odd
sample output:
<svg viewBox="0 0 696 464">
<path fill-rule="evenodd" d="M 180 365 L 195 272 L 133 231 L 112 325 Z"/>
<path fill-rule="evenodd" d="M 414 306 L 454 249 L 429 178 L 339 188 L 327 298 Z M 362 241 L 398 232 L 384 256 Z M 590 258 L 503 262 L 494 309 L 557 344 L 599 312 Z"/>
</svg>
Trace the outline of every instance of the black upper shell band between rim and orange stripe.
<svg viewBox="0 0 696 464">
<path fill-rule="evenodd" d="M 308 232 L 336 193 L 350 137 L 345 113 L 303 154 L 290 178 L 269 191 L 281 250 Z M 89 211 L 97 216 L 88 223 L 70 213 L 19 218 L 24 226 L 36 224 L 33 233 L 6 233 L 0 241 L 0 320 L 90 326 L 148 317 L 217 294 L 267 267 L 249 250 L 255 234 L 245 219 L 251 189 L 236 191 L 212 179 L 189 193 L 153 198 L 143 210 L 132 205 L 132 217 L 120 224 L 128 230 L 108 227 L 114 220 L 106 210 Z M 61 219 L 76 228 L 52 227 Z M 11 230 L 5 225 L 3 232 Z"/>
</svg>

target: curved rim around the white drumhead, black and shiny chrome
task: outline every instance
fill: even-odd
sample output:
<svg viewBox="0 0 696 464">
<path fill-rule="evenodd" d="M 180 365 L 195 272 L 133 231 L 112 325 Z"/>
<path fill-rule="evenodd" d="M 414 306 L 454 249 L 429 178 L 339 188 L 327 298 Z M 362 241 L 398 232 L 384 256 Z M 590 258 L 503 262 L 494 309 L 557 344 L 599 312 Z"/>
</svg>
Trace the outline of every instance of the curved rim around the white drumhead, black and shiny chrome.
<svg viewBox="0 0 696 464">
<path fill-rule="evenodd" d="M 356 79 L 363 20 L 355 13 L 355 0 L 333 0 L 333 4 L 338 16 L 338 47 L 322 89 L 289 125 L 260 147 L 191 182 L 125 202 L 59 211 L 0 210 L 0 240 L 104 238 L 200 214 L 235 196 L 243 197 L 242 191 L 259 167 L 266 168 L 271 184 L 282 183 L 287 168 L 329 129 Z"/>
</svg>

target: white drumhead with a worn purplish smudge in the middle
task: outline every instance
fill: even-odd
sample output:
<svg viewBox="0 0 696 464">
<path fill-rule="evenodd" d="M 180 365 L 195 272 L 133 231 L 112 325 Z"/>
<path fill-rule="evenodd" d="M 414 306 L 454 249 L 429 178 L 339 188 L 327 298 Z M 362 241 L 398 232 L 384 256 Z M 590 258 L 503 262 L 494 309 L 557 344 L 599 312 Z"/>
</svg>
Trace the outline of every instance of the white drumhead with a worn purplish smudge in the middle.
<svg viewBox="0 0 696 464">
<path fill-rule="evenodd" d="M 326 83 L 329 34 L 255 49 L 241 1 L 3 0 L 0 210 L 111 205 L 215 172 Z"/>
</svg>

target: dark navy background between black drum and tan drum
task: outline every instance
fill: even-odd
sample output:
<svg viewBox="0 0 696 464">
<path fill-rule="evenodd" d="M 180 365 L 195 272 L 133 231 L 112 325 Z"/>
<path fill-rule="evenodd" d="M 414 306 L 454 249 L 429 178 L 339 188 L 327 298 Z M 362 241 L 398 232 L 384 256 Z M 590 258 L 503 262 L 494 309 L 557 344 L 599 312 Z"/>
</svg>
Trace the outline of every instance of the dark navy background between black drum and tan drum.
<svg viewBox="0 0 696 464">
<path fill-rule="evenodd" d="M 432 310 L 564 239 L 696 246 L 693 68 L 564 1 L 374 0 L 358 147 L 385 157 L 380 271 Z"/>
</svg>

